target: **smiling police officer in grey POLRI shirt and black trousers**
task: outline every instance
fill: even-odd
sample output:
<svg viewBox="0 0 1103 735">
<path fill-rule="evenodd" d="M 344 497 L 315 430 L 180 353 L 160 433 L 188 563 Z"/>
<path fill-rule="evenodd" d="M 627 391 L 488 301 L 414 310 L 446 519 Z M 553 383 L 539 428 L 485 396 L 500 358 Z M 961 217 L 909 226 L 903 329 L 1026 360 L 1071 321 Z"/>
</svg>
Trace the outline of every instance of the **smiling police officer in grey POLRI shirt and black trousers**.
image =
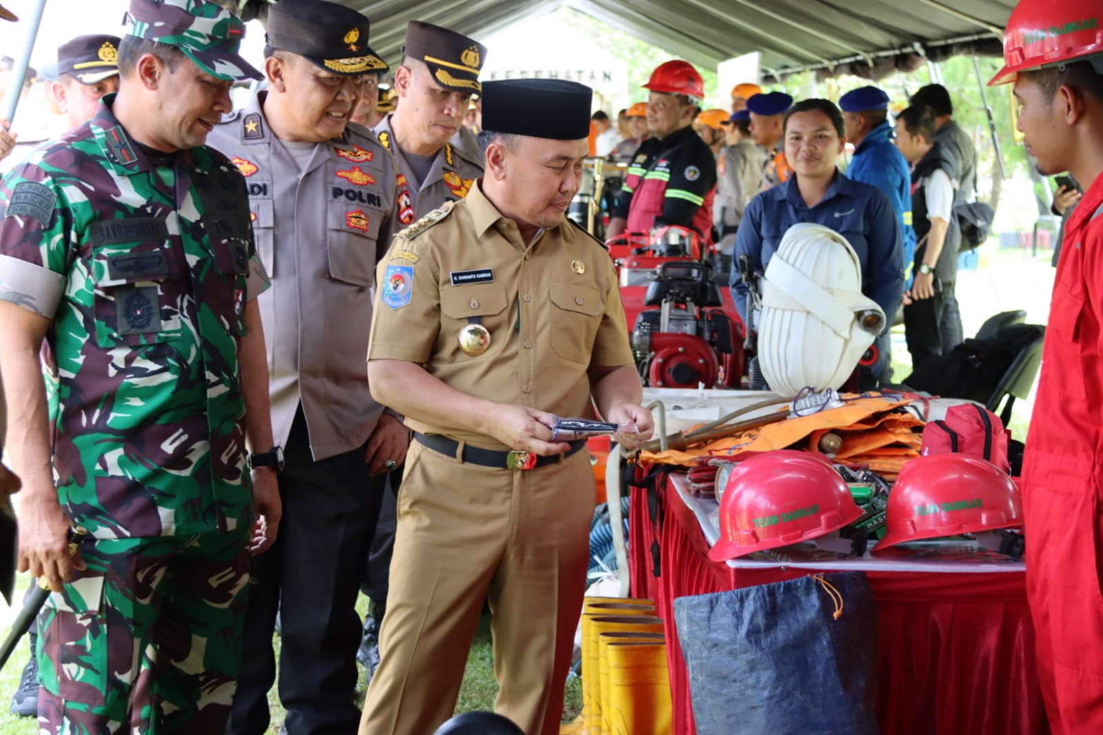
<svg viewBox="0 0 1103 735">
<path fill-rule="evenodd" d="M 272 431 L 286 446 L 287 533 L 255 560 L 231 733 L 268 726 L 277 608 L 287 732 L 352 732 L 360 717 L 356 582 L 385 472 L 407 444 L 399 419 L 372 400 L 364 366 L 377 252 L 403 217 L 393 159 L 370 130 L 347 126 L 364 75 L 386 71 L 367 41 L 367 19 L 338 3 L 272 6 L 268 90 L 210 138 L 245 175 L 271 275 L 260 313 Z"/>
</svg>

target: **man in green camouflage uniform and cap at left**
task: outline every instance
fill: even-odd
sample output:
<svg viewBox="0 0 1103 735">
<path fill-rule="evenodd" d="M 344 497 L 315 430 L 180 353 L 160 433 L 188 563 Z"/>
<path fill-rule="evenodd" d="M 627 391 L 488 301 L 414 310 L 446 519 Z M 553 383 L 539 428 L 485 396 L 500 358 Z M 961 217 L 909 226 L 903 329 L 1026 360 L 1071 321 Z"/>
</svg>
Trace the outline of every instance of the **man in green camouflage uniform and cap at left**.
<svg viewBox="0 0 1103 735">
<path fill-rule="evenodd" d="M 0 187 L 0 369 L 25 483 L 41 732 L 217 732 L 250 547 L 276 537 L 264 329 L 245 182 L 204 148 L 239 19 L 131 0 L 117 96 Z M 56 356 L 46 408 L 39 346 Z M 51 413 L 47 415 L 47 413 Z M 53 447 L 51 451 L 51 434 Z M 90 537 L 67 553 L 71 525 Z"/>
</svg>

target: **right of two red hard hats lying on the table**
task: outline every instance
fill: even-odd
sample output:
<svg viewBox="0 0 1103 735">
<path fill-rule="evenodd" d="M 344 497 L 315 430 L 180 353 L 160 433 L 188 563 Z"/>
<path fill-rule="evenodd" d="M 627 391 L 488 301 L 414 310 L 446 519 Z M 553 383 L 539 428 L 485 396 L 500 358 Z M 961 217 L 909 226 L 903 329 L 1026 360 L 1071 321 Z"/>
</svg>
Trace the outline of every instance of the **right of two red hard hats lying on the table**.
<svg viewBox="0 0 1103 735">
<path fill-rule="evenodd" d="M 929 454 L 904 464 L 889 493 L 888 533 L 874 553 L 904 541 L 1022 526 L 1022 498 L 994 464 L 964 454 Z"/>
</svg>

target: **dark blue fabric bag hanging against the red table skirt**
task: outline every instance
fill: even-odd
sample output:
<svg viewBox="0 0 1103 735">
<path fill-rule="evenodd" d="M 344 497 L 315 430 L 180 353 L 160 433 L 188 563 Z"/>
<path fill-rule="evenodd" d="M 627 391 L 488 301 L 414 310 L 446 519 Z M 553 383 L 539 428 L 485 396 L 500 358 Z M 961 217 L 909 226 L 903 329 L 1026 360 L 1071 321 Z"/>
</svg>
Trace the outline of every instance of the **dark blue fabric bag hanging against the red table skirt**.
<svg viewBox="0 0 1103 735">
<path fill-rule="evenodd" d="M 678 597 L 698 735 L 876 735 L 877 608 L 863 572 Z"/>
</svg>

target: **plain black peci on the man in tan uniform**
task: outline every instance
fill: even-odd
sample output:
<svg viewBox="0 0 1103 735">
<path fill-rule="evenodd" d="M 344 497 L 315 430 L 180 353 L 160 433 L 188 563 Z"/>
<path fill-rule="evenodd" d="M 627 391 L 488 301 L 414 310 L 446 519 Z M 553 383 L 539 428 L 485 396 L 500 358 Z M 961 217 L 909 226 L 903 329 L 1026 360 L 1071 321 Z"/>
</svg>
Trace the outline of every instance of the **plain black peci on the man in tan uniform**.
<svg viewBox="0 0 1103 735">
<path fill-rule="evenodd" d="M 503 79 L 483 85 L 483 129 L 580 140 L 590 133 L 593 90 L 566 79 Z"/>
</svg>

